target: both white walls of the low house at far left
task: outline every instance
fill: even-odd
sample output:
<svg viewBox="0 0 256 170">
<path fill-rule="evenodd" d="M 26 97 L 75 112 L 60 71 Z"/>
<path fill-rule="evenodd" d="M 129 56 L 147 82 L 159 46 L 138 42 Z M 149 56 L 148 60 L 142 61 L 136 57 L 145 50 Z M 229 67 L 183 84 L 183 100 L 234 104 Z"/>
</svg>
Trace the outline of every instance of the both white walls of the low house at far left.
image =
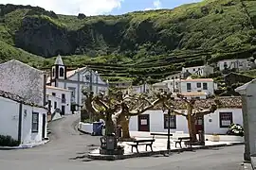
<svg viewBox="0 0 256 170">
<path fill-rule="evenodd" d="M 20 104 L 8 98 L 0 97 L 0 134 L 9 135 L 13 139 L 18 140 L 19 126 L 19 111 Z M 37 133 L 31 132 L 32 126 L 32 111 L 39 112 L 39 130 Z M 43 114 L 46 114 L 45 109 L 35 108 L 27 105 L 22 106 L 22 144 L 40 143 L 42 142 L 43 130 Z M 26 113 L 27 112 L 27 113 Z M 47 118 L 46 118 L 47 123 Z M 47 136 L 46 128 L 45 137 Z"/>
</svg>

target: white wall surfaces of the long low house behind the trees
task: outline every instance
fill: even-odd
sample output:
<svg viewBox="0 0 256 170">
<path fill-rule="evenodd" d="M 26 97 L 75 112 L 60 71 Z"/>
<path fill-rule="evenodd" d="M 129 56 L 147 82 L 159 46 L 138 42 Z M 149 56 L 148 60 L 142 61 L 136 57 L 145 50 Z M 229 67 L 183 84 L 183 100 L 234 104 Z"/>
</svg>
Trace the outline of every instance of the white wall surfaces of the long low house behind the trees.
<svg viewBox="0 0 256 170">
<path fill-rule="evenodd" d="M 221 128 L 219 123 L 219 112 L 231 111 L 233 114 L 233 123 L 243 125 L 243 115 L 241 109 L 218 109 L 214 113 L 205 116 L 205 132 L 212 134 L 225 134 L 228 128 Z M 166 113 L 166 112 L 165 112 Z M 167 132 L 164 129 L 164 113 L 162 110 L 147 110 L 144 114 L 150 114 L 150 131 L 152 132 Z M 209 121 L 211 119 L 211 122 Z M 130 130 L 137 131 L 137 116 L 131 117 Z M 176 116 L 176 129 L 171 129 L 171 132 L 184 131 L 188 133 L 187 120 L 183 116 Z"/>
</svg>

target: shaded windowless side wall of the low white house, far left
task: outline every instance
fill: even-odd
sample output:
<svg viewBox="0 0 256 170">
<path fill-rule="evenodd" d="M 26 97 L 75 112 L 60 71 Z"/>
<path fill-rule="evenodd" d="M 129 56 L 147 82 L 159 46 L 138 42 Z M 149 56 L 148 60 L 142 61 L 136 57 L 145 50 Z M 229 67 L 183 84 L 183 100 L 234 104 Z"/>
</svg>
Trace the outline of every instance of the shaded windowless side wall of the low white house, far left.
<svg viewBox="0 0 256 170">
<path fill-rule="evenodd" d="M 19 107 L 18 102 L 8 98 L 0 97 L 0 134 L 9 135 L 18 140 L 19 126 Z"/>
</svg>

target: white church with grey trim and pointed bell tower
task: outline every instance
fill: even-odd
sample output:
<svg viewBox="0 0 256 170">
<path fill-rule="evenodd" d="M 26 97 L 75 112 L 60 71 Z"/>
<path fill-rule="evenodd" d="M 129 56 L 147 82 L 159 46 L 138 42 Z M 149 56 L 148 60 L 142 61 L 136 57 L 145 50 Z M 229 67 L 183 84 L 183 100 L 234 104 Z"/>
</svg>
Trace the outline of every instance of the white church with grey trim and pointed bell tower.
<svg viewBox="0 0 256 170">
<path fill-rule="evenodd" d="M 71 91 L 71 107 L 82 106 L 82 89 L 88 88 L 94 93 L 106 93 L 108 82 L 104 82 L 97 71 L 87 67 L 67 71 L 62 57 L 59 55 L 51 68 L 47 85 Z M 81 107 L 71 110 L 81 110 Z"/>
</svg>

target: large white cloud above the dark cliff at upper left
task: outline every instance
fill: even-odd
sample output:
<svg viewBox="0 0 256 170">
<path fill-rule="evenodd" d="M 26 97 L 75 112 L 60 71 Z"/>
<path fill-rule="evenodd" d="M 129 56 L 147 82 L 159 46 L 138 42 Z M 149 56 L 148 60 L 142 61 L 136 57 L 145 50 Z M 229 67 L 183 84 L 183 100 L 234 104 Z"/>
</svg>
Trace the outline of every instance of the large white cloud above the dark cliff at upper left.
<svg viewBox="0 0 256 170">
<path fill-rule="evenodd" d="M 39 6 L 58 14 L 99 15 L 120 8 L 122 1 L 124 0 L 0 0 L 0 3 Z"/>
</svg>

